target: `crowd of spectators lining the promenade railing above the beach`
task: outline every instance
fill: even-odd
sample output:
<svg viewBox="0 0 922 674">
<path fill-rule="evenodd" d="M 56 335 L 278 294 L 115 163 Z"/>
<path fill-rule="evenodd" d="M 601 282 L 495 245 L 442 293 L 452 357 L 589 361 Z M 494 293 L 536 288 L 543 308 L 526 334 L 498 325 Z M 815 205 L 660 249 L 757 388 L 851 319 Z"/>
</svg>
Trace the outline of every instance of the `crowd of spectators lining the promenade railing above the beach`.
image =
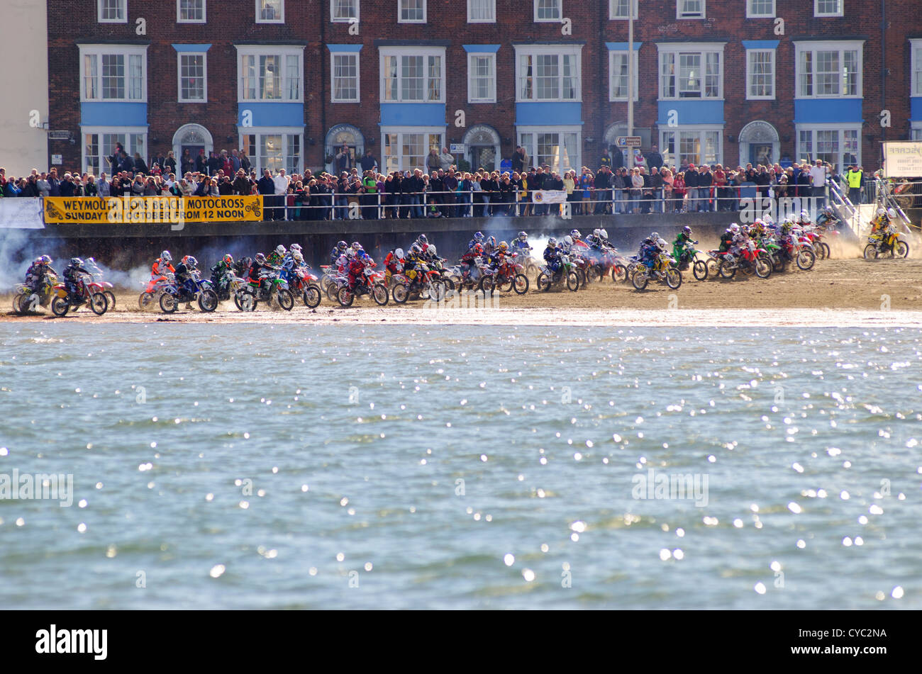
<svg viewBox="0 0 922 674">
<path fill-rule="evenodd" d="M 829 197 L 830 181 L 838 182 L 852 201 L 867 202 L 872 182 L 860 167 L 840 174 L 829 163 L 801 160 L 789 167 L 747 164 L 745 168 L 722 164 L 682 163 L 669 166 L 656 145 L 637 153 L 635 165 L 621 165 L 620 155 L 604 151 L 599 168 L 559 173 L 547 165 L 529 167 L 526 151 L 515 150 L 512 170 L 479 168 L 460 170 L 455 157 L 435 148 L 425 160 L 427 171 L 382 173 L 368 150 L 356 160 L 349 148 L 333 158 L 336 174 L 311 170 L 288 175 L 284 168 L 268 168 L 257 176 L 242 150 L 211 152 L 192 157 L 183 152 L 179 163 L 172 152 L 150 157 L 129 157 L 117 145 L 107 162 L 111 174 L 65 172 L 57 168 L 29 176 L 7 177 L 0 168 L 0 195 L 17 196 L 225 196 L 261 194 L 269 220 L 331 220 L 422 217 L 479 217 L 491 215 L 553 215 L 556 205 L 533 203 L 536 191 L 566 192 L 574 215 L 690 213 L 738 211 L 741 198 L 759 196 Z M 614 168 L 612 162 L 615 162 Z M 179 171 L 177 171 L 177 166 Z M 507 165 L 508 166 L 508 165 Z M 876 177 L 876 176 L 875 176 Z M 852 189 L 849 189 L 851 187 Z M 856 189 L 857 188 L 857 189 Z"/>
</svg>

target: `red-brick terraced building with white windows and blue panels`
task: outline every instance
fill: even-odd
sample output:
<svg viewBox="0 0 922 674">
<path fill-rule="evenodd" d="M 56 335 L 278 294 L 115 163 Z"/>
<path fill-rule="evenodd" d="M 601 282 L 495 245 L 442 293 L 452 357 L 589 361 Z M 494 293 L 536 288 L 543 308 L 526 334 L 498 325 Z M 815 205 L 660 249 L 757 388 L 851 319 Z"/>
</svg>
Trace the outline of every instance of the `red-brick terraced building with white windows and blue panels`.
<svg viewBox="0 0 922 674">
<path fill-rule="evenodd" d="M 49 151 L 99 172 L 116 141 L 236 147 L 292 172 L 342 145 L 388 169 L 447 145 L 500 168 L 523 145 L 596 168 L 627 131 L 631 2 L 49 0 L 51 126 L 79 139 Z M 634 131 L 670 163 L 876 168 L 881 140 L 922 139 L 918 0 L 633 5 Z"/>
</svg>

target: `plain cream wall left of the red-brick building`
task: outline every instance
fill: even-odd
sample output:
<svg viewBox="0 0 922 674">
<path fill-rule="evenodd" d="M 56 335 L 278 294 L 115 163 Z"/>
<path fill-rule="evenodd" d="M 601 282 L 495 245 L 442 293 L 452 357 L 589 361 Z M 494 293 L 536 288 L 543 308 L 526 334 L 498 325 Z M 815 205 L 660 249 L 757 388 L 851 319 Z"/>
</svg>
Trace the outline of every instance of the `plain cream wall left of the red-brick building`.
<svg viewBox="0 0 922 674">
<path fill-rule="evenodd" d="M 0 30 L 3 105 L 0 105 L 0 167 L 7 176 L 48 170 L 48 28 L 41 0 L 4 0 Z M 30 126 L 38 110 L 38 127 Z M 68 144 L 69 145 L 69 144 Z"/>
</svg>

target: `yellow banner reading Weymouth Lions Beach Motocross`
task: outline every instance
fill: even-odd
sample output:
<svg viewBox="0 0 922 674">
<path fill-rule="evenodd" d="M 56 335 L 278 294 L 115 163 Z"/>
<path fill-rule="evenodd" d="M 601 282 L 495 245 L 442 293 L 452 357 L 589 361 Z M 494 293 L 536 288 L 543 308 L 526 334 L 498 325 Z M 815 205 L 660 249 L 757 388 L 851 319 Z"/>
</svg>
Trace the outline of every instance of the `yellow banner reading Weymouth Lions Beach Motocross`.
<svg viewBox="0 0 922 674">
<path fill-rule="evenodd" d="M 46 225 L 255 222 L 263 219 L 263 197 L 45 197 L 43 211 Z"/>
</svg>

